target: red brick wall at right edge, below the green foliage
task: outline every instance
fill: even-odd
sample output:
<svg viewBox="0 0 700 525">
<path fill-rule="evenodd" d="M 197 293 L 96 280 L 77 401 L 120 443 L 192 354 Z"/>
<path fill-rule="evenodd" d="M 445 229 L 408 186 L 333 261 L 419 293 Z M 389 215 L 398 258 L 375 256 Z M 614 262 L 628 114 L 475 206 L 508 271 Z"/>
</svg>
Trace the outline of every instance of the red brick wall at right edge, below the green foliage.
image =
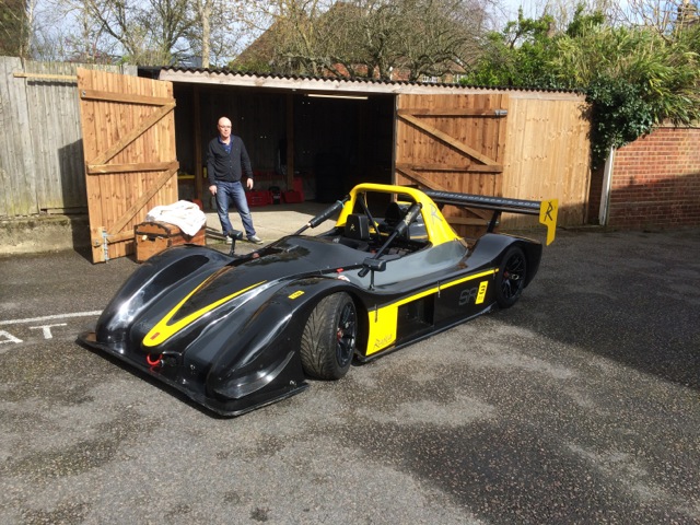
<svg viewBox="0 0 700 525">
<path fill-rule="evenodd" d="M 610 226 L 700 225 L 700 128 L 657 128 L 620 148 L 611 182 Z"/>
</svg>

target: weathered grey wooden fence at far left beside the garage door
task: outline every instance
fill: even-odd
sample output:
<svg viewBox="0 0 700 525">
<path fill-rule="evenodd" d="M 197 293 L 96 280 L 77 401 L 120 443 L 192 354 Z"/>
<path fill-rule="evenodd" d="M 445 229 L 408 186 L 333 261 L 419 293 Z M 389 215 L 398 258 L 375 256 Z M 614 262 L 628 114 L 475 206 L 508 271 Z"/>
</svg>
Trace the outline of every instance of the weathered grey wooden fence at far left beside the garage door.
<svg viewBox="0 0 700 525">
<path fill-rule="evenodd" d="M 77 68 L 137 74 L 135 66 L 0 57 L 0 217 L 85 212 Z"/>
</svg>

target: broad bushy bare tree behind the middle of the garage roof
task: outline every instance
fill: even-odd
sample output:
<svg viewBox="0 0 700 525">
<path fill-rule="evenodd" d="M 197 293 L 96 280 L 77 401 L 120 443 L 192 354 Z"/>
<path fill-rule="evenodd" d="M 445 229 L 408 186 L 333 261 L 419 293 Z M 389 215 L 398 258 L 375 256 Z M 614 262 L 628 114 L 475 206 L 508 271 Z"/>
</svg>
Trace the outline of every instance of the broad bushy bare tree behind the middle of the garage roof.
<svg viewBox="0 0 700 525">
<path fill-rule="evenodd" d="M 278 0 L 269 7 L 273 22 L 248 63 L 316 75 L 441 75 L 472 57 L 486 21 L 477 0 Z"/>
</svg>

